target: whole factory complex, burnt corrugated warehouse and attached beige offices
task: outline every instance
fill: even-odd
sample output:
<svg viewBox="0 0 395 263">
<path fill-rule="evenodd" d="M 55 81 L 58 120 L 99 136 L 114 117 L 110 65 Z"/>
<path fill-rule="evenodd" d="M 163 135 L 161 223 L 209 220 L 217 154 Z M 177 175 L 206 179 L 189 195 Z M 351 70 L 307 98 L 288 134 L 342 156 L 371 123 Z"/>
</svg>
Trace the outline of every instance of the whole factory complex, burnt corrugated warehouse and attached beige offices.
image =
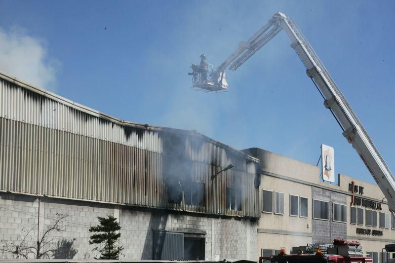
<svg viewBox="0 0 395 263">
<path fill-rule="evenodd" d="M 330 185 L 317 166 L 120 120 L 3 73 L 0 156 L 0 249 L 29 229 L 34 244 L 57 215 L 67 226 L 52 237 L 74 259 L 97 255 L 88 229 L 108 214 L 125 260 L 256 261 L 344 238 L 379 263 L 395 239 L 376 185 L 342 174 Z"/>
</svg>

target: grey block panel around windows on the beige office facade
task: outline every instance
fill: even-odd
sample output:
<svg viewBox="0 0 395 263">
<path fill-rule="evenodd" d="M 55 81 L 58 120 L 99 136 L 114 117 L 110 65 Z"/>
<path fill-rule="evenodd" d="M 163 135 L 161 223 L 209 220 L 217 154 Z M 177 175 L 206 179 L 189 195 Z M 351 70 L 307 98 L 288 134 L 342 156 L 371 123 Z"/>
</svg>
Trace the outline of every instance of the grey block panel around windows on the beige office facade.
<svg viewBox="0 0 395 263">
<path fill-rule="evenodd" d="M 332 243 L 335 238 L 347 239 L 347 223 L 333 222 L 333 202 L 346 204 L 346 195 L 322 188 L 312 188 L 313 199 L 329 202 L 329 221 L 313 219 L 313 243 Z"/>
</svg>

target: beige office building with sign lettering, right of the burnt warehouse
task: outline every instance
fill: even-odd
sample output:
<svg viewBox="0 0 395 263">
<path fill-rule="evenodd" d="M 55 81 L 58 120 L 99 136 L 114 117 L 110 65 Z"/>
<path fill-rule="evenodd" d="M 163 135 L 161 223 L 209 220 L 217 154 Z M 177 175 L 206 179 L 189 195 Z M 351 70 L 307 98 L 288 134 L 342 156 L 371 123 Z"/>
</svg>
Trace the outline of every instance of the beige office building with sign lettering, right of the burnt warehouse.
<svg viewBox="0 0 395 263">
<path fill-rule="evenodd" d="M 392 258 L 382 249 L 395 241 L 395 220 L 377 185 L 343 174 L 331 185 L 315 165 L 258 148 L 244 151 L 261 160 L 258 257 L 342 238 L 358 241 L 373 263 Z"/>
</svg>

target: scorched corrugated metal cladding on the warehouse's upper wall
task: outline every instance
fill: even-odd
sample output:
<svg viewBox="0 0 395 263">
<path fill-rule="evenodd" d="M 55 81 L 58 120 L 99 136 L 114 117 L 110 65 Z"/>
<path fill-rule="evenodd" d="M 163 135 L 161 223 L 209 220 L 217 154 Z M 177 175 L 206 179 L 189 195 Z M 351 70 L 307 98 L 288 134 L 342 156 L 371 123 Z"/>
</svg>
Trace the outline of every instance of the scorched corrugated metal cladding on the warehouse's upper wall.
<svg viewBox="0 0 395 263">
<path fill-rule="evenodd" d="M 190 131 L 126 123 L 0 75 L 0 190 L 258 218 L 259 162 Z M 212 174 L 235 167 L 213 181 Z M 204 206 L 168 202 L 205 184 Z M 226 188 L 241 189 L 241 211 Z"/>
</svg>

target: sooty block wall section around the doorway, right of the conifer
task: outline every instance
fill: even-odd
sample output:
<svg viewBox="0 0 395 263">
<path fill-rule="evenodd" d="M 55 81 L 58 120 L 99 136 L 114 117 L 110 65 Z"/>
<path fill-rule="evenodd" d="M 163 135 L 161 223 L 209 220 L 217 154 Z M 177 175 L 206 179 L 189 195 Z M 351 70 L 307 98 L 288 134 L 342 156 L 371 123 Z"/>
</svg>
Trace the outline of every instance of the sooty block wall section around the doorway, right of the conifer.
<svg viewBox="0 0 395 263">
<path fill-rule="evenodd" d="M 256 260 L 256 222 L 122 209 L 120 224 L 126 259 L 152 259 L 153 230 L 162 229 L 205 238 L 205 259 L 208 260 L 213 260 L 214 255 L 220 259 Z"/>
</svg>

